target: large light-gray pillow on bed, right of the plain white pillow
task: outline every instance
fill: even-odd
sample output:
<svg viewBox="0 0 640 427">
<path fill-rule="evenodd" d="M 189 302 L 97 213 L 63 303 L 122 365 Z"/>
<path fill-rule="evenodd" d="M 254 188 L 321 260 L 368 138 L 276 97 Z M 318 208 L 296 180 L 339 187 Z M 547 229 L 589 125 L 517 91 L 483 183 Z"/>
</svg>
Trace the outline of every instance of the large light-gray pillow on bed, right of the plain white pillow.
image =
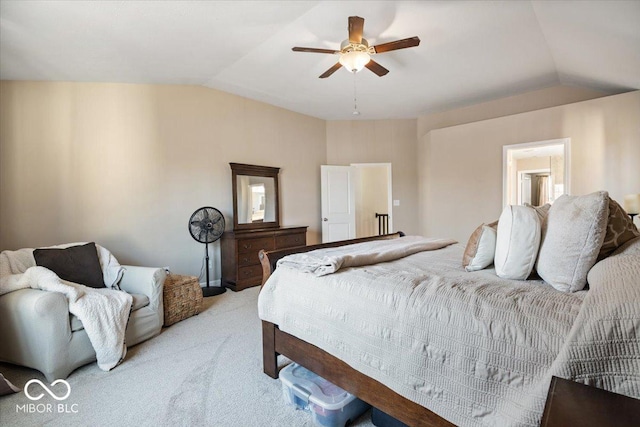
<svg viewBox="0 0 640 427">
<path fill-rule="evenodd" d="M 538 275 L 563 292 L 583 289 L 604 241 L 608 216 L 606 191 L 558 198 L 549 209 L 543 230 Z"/>
</svg>

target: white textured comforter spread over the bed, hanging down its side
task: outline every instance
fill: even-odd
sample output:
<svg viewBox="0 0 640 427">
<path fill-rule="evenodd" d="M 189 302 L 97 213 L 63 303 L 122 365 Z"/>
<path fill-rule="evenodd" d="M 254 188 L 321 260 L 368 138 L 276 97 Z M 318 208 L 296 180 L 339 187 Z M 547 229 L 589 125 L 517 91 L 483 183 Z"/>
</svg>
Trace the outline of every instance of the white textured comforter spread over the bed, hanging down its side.
<svg viewBox="0 0 640 427">
<path fill-rule="evenodd" d="M 538 425 L 552 375 L 640 397 L 640 286 L 561 293 L 465 272 L 462 252 L 278 268 L 259 315 L 458 425 Z"/>
</svg>

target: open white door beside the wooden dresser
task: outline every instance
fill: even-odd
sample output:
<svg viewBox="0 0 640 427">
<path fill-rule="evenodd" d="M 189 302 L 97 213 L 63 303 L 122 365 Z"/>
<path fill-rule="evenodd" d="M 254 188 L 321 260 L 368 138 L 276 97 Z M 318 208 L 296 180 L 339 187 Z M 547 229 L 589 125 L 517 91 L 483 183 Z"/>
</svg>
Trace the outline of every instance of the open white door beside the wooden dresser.
<svg viewBox="0 0 640 427">
<path fill-rule="evenodd" d="M 356 237 L 353 166 L 320 166 L 322 242 Z"/>
</svg>

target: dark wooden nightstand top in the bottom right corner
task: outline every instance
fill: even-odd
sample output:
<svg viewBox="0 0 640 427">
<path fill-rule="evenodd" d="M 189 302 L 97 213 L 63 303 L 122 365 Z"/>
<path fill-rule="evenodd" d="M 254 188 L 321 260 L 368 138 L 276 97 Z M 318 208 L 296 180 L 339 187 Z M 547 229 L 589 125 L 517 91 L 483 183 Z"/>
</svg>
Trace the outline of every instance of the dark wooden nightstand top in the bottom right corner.
<svg viewBox="0 0 640 427">
<path fill-rule="evenodd" d="M 542 427 L 640 425 L 640 400 L 552 377 Z"/>
</svg>

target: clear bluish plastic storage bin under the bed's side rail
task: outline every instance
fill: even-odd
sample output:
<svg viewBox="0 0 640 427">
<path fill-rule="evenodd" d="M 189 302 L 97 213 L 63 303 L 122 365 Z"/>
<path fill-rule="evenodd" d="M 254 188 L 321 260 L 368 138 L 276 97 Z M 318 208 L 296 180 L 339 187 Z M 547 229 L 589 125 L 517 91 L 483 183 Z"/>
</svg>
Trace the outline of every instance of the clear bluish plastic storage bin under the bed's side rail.
<svg viewBox="0 0 640 427">
<path fill-rule="evenodd" d="M 297 363 L 280 371 L 280 381 L 285 402 L 311 412 L 316 426 L 344 427 L 370 408 L 353 394 Z"/>
</svg>

